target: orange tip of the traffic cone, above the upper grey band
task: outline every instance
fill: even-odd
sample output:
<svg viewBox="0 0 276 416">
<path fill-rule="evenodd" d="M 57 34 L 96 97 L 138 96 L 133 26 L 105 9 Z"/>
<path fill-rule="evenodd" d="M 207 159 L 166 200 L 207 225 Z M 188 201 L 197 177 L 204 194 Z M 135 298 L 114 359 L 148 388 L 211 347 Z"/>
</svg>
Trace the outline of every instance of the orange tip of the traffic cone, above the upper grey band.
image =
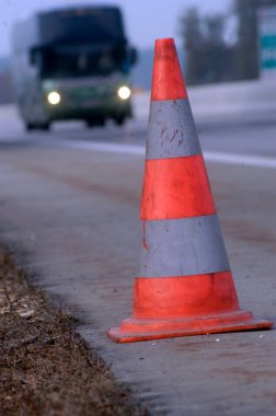
<svg viewBox="0 0 276 416">
<path fill-rule="evenodd" d="M 172 38 L 156 42 L 151 101 L 186 99 L 177 54 Z"/>
</svg>

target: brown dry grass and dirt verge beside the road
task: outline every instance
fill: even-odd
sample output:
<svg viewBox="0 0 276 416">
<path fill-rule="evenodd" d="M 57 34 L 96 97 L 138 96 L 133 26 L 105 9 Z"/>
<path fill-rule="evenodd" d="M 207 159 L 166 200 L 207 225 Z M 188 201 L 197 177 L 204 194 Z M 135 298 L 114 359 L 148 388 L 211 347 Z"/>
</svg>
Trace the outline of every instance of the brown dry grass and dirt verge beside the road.
<svg viewBox="0 0 276 416">
<path fill-rule="evenodd" d="M 148 415 L 0 249 L 0 415 Z"/>
</svg>

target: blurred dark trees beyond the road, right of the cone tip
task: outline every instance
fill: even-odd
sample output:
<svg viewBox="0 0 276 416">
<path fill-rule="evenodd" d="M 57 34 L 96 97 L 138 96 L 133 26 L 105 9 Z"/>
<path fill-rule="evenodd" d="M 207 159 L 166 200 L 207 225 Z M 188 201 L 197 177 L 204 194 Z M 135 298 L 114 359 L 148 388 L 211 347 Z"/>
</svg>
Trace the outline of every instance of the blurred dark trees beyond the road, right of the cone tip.
<svg viewBox="0 0 276 416">
<path fill-rule="evenodd" d="M 268 5 L 276 5 L 276 0 L 233 0 L 226 14 L 187 9 L 180 19 L 187 83 L 258 78 L 257 9 Z"/>
</svg>

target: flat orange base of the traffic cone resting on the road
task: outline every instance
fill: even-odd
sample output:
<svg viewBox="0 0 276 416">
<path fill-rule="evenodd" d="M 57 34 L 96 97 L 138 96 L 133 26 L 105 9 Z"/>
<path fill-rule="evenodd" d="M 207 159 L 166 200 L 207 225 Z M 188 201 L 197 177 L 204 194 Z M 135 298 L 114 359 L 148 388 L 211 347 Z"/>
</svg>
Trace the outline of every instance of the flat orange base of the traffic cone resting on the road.
<svg viewBox="0 0 276 416">
<path fill-rule="evenodd" d="M 269 330 L 272 326 L 272 322 L 254 317 L 251 312 L 237 311 L 189 319 L 149 320 L 131 317 L 123 321 L 119 327 L 111 328 L 107 335 L 116 343 L 135 343 L 223 332 Z"/>
</svg>

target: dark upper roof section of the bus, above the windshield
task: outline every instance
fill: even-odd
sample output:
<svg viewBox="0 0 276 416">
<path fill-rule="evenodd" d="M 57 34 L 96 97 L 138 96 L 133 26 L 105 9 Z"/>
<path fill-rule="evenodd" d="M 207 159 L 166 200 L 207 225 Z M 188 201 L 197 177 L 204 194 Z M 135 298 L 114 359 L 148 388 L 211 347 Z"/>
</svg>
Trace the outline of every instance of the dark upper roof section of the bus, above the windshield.
<svg viewBox="0 0 276 416">
<path fill-rule="evenodd" d="M 125 41 L 122 12 L 115 5 L 70 5 L 39 11 L 13 27 L 12 49 L 58 43 Z"/>
</svg>

